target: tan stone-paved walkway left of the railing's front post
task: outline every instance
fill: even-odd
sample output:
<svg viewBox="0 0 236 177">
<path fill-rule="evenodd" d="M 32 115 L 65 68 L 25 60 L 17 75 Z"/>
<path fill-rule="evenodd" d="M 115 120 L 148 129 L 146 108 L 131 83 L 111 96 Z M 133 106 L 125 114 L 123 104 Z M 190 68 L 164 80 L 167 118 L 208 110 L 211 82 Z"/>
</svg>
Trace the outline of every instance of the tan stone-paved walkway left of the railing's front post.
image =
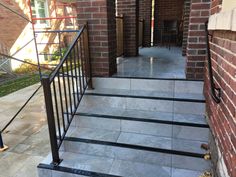
<svg viewBox="0 0 236 177">
<path fill-rule="evenodd" d="M 0 129 L 39 84 L 0 98 Z M 42 88 L 3 133 L 9 149 L 0 153 L 0 177 L 37 177 L 37 165 L 50 151 Z"/>
</svg>

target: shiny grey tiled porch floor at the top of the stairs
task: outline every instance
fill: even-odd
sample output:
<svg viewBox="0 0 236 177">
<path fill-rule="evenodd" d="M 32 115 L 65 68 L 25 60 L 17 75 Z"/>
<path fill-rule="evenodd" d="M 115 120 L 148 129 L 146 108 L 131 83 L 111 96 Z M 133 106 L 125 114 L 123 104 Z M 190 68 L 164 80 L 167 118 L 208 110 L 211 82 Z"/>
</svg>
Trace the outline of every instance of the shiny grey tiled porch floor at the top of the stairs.
<svg viewBox="0 0 236 177">
<path fill-rule="evenodd" d="M 185 65 L 180 47 L 140 48 L 137 57 L 117 58 L 114 76 L 185 79 Z"/>
</svg>

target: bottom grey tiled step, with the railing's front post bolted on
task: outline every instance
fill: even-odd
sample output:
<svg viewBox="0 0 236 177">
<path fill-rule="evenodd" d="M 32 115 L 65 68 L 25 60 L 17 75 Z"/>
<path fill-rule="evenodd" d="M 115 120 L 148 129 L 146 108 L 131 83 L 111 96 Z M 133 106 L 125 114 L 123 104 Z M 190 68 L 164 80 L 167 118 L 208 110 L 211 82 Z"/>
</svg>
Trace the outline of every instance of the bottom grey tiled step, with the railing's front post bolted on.
<svg viewBox="0 0 236 177">
<path fill-rule="evenodd" d="M 38 166 L 39 176 L 50 177 L 198 177 L 203 170 L 188 170 L 156 164 L 118 160 L 102 156 L 64 152 L 59 166 L 50 165 L 50 157 Z M 176 159 L 188 167 L 201 164 L 201 169 L 208 169 L 209 164 L 202 159 Z M 196 160 L 194 162 L 194 160 Z M 190 165 L 190 163 L 191 165 Z M 175 160 L 173 160 L 173 165 Z"/>
</svg>

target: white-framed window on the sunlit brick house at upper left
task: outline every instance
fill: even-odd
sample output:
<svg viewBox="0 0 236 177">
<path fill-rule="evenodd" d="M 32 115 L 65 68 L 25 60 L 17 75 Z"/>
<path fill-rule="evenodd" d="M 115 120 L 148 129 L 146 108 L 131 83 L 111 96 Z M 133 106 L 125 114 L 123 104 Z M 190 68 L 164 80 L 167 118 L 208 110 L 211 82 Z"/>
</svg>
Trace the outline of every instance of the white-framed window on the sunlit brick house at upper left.
<svg viewBox="0 0 236 177">
<path fill-rule="evenodd" d="M 47 0 L 31 0 L 31 9 L 33 18 L 49 17 Z M 49 27 L 49 20 L 36 20 L 38 27 Z"/>
</svg>

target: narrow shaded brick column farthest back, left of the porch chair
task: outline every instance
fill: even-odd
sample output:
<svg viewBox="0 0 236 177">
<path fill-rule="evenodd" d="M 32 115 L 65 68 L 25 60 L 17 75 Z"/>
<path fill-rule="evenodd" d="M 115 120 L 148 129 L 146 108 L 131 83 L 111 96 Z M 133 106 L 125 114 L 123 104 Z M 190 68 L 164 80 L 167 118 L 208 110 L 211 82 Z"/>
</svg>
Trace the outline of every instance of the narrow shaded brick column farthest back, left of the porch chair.
<svg viewBox="0 0 236 177">
<path fill-rule="evenodd" d="M 144 19 L 143 47 L 151 46 L 152 0 L 139 0 L 139 18 Z"/>
</svg>

